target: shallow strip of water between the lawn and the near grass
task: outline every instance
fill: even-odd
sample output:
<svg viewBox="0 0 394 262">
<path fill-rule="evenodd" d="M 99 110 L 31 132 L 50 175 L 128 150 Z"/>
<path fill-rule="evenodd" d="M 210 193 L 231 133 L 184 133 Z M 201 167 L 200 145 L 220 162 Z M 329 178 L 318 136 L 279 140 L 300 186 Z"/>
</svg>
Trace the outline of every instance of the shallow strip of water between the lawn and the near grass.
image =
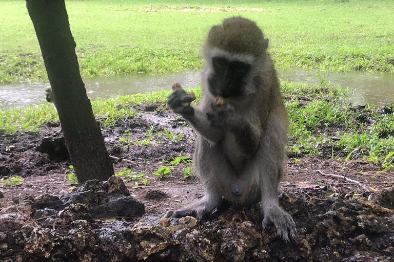
<svg viewBox="0 0 394 262">
<path fill-rule="evenodd" d="M 342 88 L 351 90 L 350 100 L 353 103 L 386 103 L 394 102 L 394 74 L 380 73 L 317 73 L 305 70 L 286 70 L 279 72 L 279 77 L 290 82 L 318 84 L 326 79 Z M 200 82 L 200 72 L 185 72 L 170 75 L 112 76 L 85 78 L 86 91 L 90 98 L 109 98 L 114 95 L 148 93 L 170 89 L 174 82 L 183 86 L 195 87 Z M 13 83 L 0 85 L 0 108 L 24 107 L 44 103 L 44 83 Z"/>
</svg>

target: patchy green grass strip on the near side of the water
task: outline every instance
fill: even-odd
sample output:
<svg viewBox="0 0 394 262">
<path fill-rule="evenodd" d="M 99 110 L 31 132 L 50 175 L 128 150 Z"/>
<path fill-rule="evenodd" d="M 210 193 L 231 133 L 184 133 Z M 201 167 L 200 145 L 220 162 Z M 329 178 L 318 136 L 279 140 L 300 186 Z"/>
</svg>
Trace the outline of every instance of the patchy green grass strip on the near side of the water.
<svg viewBox="0 0 394 262">
<path fill-rule="evenodd" d="M 198 102 L 201 90 L 193 92 Z M 367 105 L 356 110 L 345 100 L 347 91 L 325 81 L 318 85 L 282 81 L 282 92 L 290 123 L 288 150 L 298 155 L 343 160 L 363 157 L 381 163 L 384 169 L 392 168 L 394 104 L 383 109 Z M 169 94 L 170 91 L 160 91 L 96 99 L 92 101 L 93 112 L 104 125 L 111 126 L 135 115 L 131 105 L 164 104 Z M 54 107 L 49 104 L 0 111 L 0 134 L 37 131 L 56 119 Z M 168 135 L 165 137 L 169 139 Z"/>
</svg>

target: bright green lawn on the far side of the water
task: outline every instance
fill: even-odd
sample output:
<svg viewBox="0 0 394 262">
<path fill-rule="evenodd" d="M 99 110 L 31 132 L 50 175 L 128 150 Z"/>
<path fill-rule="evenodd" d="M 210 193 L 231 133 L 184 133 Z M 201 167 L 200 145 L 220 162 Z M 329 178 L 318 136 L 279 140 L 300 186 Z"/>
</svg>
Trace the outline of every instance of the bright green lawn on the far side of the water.
<svg viewBox="0 0 394 262">
<path fill-rule="evenodd" d="M 83 76 L 199 69 L 207 30 L 234 15 L 263 28 L 279 68 L 394 72 L 391 0 L 68 0 L 66 6 Z M 0 39 L 0 83 L 46 81 L 25 1 L 0 2 Z"/>
</svg>

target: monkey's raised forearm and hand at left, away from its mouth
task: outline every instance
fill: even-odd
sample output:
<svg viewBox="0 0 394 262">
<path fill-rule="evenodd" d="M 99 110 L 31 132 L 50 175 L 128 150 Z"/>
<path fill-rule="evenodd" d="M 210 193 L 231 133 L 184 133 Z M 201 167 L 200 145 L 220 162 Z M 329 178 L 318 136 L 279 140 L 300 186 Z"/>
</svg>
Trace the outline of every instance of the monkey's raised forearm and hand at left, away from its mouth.
<svg viewBox="0 0 394 262">
<path fill-rule="evenodd" d="M 168 98 L 168 105 L 175 113 L 185 118 L 205 139 L 211 143 L 218 143 L 224 137 L 224 131 L 220 127 L 210 125 L 207 114 L 199 108 L 184 106 L 184 102 L 190 102 L 189 95 L 184 90 L 174 91 Z"/>
</svg>

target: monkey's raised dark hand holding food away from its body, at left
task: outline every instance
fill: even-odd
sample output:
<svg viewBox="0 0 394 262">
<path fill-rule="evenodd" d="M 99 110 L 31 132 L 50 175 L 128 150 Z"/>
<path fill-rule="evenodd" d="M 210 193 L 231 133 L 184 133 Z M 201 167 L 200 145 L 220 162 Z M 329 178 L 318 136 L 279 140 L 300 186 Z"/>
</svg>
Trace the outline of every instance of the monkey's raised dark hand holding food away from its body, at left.
<svg viewBox="0 0 394 262">
<path fill-rule="evenodd" d="M 181 114 L 183 117 L 194 116 L 194 108 L 190 106 L 195 98 L 191 97 L 185 90 L 175 90 L 168 97 L 167 104 L 171 107 L 172 111 Z M 185 104 L 187 104 L 185 106 Z"/>
</svg>

